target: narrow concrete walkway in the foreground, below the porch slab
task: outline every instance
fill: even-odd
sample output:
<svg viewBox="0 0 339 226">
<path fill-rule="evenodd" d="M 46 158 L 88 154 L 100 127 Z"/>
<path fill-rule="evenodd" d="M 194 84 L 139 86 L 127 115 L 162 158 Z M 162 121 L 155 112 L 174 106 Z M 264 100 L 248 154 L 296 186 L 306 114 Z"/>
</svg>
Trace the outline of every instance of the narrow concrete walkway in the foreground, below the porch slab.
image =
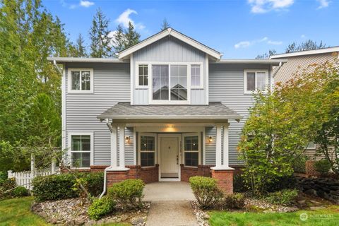
<svg viewBox="0 0 339 226">
<path fill-rule="evenodd" d="M 196 215 L 189 201 L 155 201 L 150 204 L 146 226 L 195 226 Z"/>
</svg>

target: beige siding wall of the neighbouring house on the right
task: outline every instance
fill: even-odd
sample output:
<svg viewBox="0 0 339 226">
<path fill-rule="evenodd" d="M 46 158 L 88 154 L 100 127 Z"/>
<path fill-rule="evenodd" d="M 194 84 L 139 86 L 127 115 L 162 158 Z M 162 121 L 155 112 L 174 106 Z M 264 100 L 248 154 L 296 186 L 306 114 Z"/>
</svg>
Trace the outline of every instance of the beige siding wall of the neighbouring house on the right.
<svg viewBox="0 0 339 226">
<path fill-rule="evenodd" d="M 314 71 L 317 64 L 334 61 L 336 58 L 333 53 L 287 57 L 287 63 L 285 63 L 275 75 L 275 83 L 285 83 L 291 78 L 294 78 L 296 73 L 302 73 L 303 71 L 309 73 Z"/>
</svg>

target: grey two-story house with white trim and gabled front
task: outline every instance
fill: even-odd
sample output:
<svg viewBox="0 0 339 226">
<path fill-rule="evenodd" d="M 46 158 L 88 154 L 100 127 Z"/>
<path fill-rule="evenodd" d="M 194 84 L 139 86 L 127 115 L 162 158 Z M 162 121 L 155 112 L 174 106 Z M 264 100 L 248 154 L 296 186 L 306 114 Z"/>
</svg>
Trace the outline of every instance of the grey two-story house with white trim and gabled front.
<svg viewBox="0 0 339 226">
<path fill-rule="evenodd" d="M 49 58 L 64 65 L 62 147 L 71 167 L 107 183 L 220 179 L 232 192 L 239 134 L 284 59 L 227 60 L 172 28 L 118 59 Z"/>
</svg>

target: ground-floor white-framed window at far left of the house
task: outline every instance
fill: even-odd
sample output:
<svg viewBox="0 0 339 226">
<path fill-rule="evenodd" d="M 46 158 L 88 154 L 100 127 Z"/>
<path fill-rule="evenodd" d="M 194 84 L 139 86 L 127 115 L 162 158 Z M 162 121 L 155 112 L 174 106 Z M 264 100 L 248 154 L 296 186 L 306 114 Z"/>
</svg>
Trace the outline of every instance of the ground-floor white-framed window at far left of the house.
<svg viewBox="0 0 339 226">
<path fill-rule="evenodd" d="M 89 168 L 93 151 L 93 133 L 71 133 L 69 136 L 71 167 Z"/>
</svg>

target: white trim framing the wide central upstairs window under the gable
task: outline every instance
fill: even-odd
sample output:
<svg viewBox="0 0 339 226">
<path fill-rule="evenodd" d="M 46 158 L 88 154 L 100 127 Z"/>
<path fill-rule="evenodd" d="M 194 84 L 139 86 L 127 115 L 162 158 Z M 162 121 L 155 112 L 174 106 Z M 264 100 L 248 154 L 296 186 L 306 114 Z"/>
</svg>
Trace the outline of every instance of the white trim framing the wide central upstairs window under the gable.
<svg viewBox="0 0 339 226">
<path fill-rule="evenodd" d="M 205 76 L 203 73 L 203 61 L 187 62 L 187 61 L 136 61 L 134 64 L 135 71 L 139 64 L 148 64 L 148 85 L 138 86 L 137 81 L 138 72 L 134 73 L 136 78 L 136 89 L 148 89 L 148 102 L 150 105 L 191 105 L 191 64 L 200 64 L 201 79 Z M 187 100 L 153 100 L 153 70 L 152 65 L 168 65 L 169 67 L 169 84 L 171 83 L 171 65 L 186 65 L 187 66 Z M 203 85 L 203 83 L 201 83 Z M 169 89 L 170 90 L 170 89 Z M 134 91 L 135 92 L 135 91 Z"/>
</svg>

